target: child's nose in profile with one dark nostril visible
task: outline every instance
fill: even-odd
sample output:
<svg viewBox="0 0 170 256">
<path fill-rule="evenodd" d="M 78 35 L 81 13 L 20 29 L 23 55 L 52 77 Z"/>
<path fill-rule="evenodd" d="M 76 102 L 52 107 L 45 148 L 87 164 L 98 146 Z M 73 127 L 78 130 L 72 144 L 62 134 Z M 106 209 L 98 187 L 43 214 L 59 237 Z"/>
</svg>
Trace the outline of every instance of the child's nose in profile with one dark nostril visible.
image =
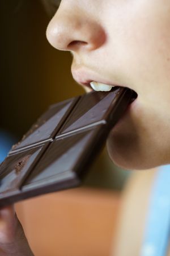
<svg viewBox="0 0 170 256">
<path fill-rule="evenodd" d="M 54 48 L 62 51 L 92 51 L 106 40 L 105 31 L 87 11 L 59 7 L 46 30 L 46 37 Z"/>
</svg>

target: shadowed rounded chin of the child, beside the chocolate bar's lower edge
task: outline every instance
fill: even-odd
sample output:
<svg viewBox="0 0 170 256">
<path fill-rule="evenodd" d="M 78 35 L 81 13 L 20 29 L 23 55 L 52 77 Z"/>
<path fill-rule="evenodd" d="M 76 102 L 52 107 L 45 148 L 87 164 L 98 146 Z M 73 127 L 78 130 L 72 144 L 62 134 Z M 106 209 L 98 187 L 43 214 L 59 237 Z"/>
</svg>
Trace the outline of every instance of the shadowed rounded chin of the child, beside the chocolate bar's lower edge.
<svg viewBox="0 0 170 256">
<path fill-rule="evenodd" d="M 146 170 L 165 164 L 135 133 L 111 132 L 107 150 L 113 163 L 125 170 Z"/>
</svg>

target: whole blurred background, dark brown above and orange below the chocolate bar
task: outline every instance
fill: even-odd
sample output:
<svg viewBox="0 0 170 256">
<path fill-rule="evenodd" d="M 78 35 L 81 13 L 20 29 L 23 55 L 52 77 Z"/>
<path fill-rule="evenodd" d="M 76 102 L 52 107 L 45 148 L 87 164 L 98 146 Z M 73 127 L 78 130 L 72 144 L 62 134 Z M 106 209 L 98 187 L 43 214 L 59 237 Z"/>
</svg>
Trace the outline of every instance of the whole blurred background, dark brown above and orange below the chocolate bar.
<svg viewBox="0 0 170 256">
<path fill-rule="evenodd" d="M 71 55 L 45 37 L 50 17 L 38 0 L 2 0 L 0 162 L 49 105 L 83 94 L 70 72 Z M 130 172 L 106 150 L 81 188 L 16 204 L 36 256 L 107 256 L 121 190 Z"/>
</svg>

